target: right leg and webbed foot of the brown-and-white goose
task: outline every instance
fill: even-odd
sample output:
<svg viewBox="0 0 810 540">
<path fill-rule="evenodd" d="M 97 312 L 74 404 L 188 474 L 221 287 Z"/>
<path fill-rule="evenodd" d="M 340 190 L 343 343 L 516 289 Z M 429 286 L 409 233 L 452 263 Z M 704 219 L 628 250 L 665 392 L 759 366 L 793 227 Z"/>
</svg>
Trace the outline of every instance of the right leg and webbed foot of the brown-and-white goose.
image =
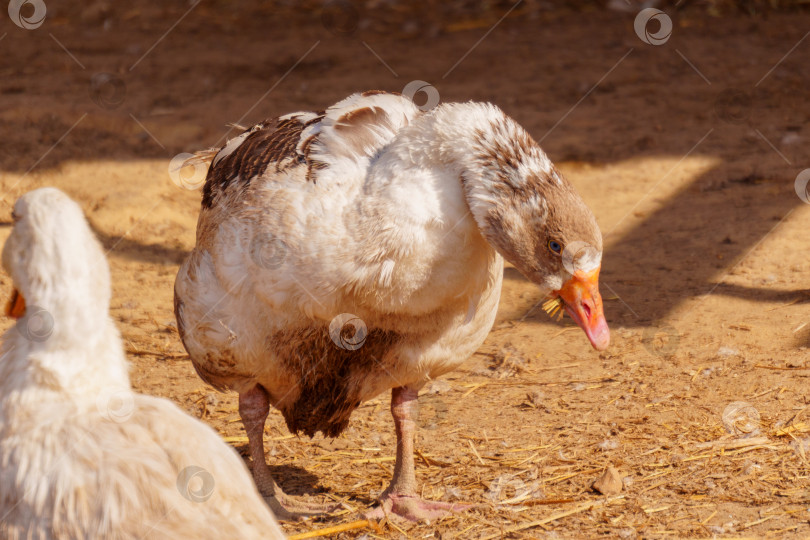
<svg viewBox="0 0 810 540">
<path fill-rule="evenodd" d="M 454 511 L 467 510 L 470 505 L 426 501 L 416 493 L 413 437 L 416 429 L 417 391 L 407 387 L 391 391 L 391 415 L 397 433 L 397 461 L 391 484 L 380 496 L 380 506 L 367 514 L 371 519 L 398 516 L 411 521 L 433 519 Z"/>
</svg>

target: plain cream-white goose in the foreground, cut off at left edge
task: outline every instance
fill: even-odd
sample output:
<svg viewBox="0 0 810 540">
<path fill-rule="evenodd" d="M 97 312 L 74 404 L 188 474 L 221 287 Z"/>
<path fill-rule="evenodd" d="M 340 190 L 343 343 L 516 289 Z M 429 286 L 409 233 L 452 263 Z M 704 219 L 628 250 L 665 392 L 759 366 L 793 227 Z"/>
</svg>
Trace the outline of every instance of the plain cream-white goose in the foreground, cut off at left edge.
<svg viewBox="0 0 810 540">
<path fill-rule="evenodd" d="M 0 538 L 284 538 L 241 458 L 130 389 L 110 275 L 79 206 L 43 188 L 3 250 L 17 323 L 0 356 Z"/>
</svg>

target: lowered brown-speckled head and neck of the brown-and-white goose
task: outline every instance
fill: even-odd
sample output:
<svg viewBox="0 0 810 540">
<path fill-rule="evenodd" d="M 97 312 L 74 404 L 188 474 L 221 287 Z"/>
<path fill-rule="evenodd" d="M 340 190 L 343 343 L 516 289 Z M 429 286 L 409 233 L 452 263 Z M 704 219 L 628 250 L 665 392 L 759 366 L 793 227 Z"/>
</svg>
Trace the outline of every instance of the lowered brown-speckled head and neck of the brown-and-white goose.
<svg viewBox="0 0 810 540">
<path fill-rule="evenodd" d="M 531 136 L 500 109 L 468 103 L 445 110 L 455 118 L 442 122 L 445 129 L 464 130 L 446 140 L 455 141 L 467 204 L 483 237 L 561 302 L 595 349 L 606 349 L 610 330 L 599 294 L 602 233 L 591 210 Z"/>
</svg>

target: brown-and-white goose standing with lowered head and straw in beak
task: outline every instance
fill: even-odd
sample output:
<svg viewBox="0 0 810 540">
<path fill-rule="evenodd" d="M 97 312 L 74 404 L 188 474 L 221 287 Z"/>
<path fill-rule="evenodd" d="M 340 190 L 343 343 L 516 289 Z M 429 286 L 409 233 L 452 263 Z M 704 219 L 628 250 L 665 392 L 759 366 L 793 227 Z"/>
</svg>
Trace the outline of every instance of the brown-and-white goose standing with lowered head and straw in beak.
<svg viewBox="0 0 810 540">
<path fill-rule="evenodd" d="M 200 376 L 239 393 L 254 477 L 278 511 L 307 507 L 270 476 L 269 405 L 292 432 L 336 436 L 388 389 L 397 461 L 371 515 L 452 510 L 416 492 L 417 392 L 484 341 L 503 258 L 608 345 L 593 214 L 493 105 L 422 112 L 365 92 L 257 124 L 207 158 L 178 328 Z"/>
</svg>

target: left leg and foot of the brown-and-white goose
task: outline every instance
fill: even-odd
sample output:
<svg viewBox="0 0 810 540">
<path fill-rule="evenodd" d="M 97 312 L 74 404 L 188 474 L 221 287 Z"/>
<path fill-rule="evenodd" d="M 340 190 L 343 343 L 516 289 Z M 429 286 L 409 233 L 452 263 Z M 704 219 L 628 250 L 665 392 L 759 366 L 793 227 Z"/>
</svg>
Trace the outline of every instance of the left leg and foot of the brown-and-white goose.
<svg viewBox="0 0 810 540">
<path fill-rule="evenodd" d="M 253 461 L 253 479 L 270 509 L 278 519 L 298 521 L 334 511 L 335 505 L 310 504 L 294 500 L 284 493 L 270 474 L 264 459 L 264 423 L 270 412 L 270 398 L 261 385 L 239 394 L 239 416 L 248 436 L 250 459 Z"/>
</svg>

